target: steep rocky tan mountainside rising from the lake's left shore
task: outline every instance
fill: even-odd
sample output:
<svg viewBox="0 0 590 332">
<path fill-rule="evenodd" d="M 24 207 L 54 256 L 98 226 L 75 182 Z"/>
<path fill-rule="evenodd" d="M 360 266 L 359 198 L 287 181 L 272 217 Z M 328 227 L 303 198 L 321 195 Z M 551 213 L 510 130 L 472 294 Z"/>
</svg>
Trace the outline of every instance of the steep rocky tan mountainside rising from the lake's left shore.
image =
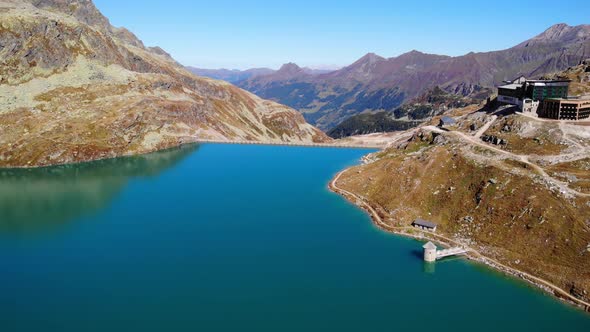
<svg viewBox="0 0 590 332">
<path fill-rule="evenodd" d="M 0 0 L 0 167 L 151 152 L 198 138 L 321 142 L 296 111 L 197 77 L 90 0 Z"/>
</svg>

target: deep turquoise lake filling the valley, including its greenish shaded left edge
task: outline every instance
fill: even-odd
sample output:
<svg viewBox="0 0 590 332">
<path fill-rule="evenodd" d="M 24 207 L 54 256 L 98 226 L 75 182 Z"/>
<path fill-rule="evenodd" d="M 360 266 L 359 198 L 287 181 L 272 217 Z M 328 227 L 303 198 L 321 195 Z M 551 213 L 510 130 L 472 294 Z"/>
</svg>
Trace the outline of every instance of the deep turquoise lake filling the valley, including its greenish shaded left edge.
<svg viewBox="0 0 590 332">
<path fill-rule="evenodd" d="M 374 227 L 368 150 L 192 145 L 0 170 L 0 331 L 590 331 L 590 315 Z"/>
</svg>

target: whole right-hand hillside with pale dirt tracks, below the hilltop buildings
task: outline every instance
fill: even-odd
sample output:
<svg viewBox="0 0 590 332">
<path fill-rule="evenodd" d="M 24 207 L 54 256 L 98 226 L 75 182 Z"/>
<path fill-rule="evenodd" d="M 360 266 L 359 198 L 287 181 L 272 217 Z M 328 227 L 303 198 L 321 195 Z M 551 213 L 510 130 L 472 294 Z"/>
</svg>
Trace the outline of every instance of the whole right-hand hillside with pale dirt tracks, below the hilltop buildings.
<svg viewBox="0 0 590 332">
<path fill-rule="evenodd" d="M 412 221 L 431 220 L 439 235 L 590 302 L 590 123 L 452 114 L 447 130 L 390 135 L 337 186 L 389 230 L 420 236 Z"/>
</svg>

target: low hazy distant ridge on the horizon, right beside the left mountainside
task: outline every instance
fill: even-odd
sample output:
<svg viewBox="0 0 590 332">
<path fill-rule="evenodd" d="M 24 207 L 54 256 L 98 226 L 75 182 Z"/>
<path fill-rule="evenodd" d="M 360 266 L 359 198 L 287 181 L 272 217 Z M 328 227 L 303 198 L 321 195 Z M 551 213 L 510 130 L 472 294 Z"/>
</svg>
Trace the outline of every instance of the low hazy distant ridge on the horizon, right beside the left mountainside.
<svg viewBox="0 0 590 332">
<path fill-rule="evenodd" d="M 284 65 L 281 68 L 284 71 L 289 70 L 302 70 L 303 72 L 311 75 L 319 75 L 329 73 L 332 70 L 324 70 L 324 69 L 310 69 L 310 68 L 299 68 L 296 64 L 289 63 Z M 296 67 L 296 68 L 295 68 Z M 229 83 L 237 83 L 240 81 L 244 81 L 251 78 L 256 78 L 260 76 L 268 76 L 273 75 L 275 73 L 281 72 L 281 69 L 274 70 L 270 68 L 252 68 L 247 70 L 238 70 L 238 69 L 201 69 L 195 67 L 186 67 L 190 72 L 195 75 L 209 77 L 216 80 L 223 80 Z"/>
</svg>

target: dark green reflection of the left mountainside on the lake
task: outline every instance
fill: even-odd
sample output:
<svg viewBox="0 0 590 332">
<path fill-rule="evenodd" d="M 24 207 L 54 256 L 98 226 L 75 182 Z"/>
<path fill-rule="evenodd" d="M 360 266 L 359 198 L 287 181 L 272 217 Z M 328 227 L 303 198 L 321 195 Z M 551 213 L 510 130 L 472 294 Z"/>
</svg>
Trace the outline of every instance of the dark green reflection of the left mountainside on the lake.
<svg viewBox="0 0 590 332">
<path fill-rule="evenodd" d="M 152 154 L 41 169 L 0 169 L 0 235 L 50 231 L 110 204 L 128 181 L 154 177 L 195 152 Z"/>
</svg>

